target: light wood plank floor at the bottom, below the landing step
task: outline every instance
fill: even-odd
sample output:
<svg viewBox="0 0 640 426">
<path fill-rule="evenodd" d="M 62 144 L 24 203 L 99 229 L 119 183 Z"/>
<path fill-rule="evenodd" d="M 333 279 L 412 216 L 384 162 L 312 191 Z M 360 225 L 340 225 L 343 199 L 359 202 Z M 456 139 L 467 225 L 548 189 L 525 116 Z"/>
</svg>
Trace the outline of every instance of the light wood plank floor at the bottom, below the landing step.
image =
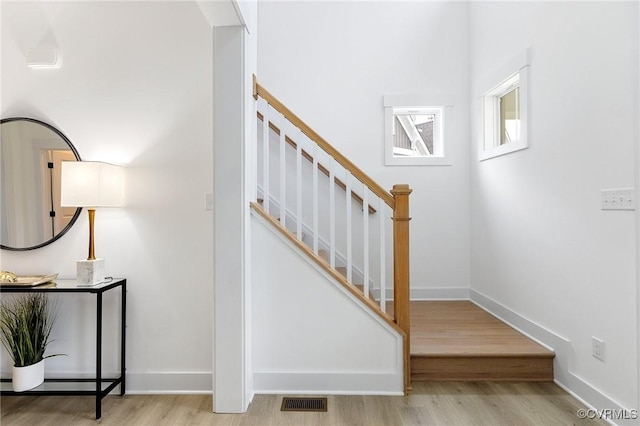
<svg viewBox="0 0 640 426">
<path fill-rule="evenodd" d="M 281 412 L 282 395 L 256 395 L 245 414 L 214 414 L 210 395 L 108 396 L 102 425 L 599 425 L 553 383 L 425 382 L 409 396 L 329 396 L 326 413 Z M 90 397 L 7 396 L 2 426 L 95 425 Z"/>
</svg>

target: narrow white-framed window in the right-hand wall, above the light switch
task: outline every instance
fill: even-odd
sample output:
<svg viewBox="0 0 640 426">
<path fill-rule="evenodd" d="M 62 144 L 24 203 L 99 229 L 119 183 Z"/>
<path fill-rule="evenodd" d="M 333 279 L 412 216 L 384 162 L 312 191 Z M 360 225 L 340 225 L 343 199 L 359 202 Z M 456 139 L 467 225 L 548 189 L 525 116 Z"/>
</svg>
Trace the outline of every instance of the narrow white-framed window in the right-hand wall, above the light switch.
<svg viewBox="0 0 640 426">
<path fill-rule="evenodd" d="M 524 58 L 524 61 L 522 60 Z M 512 72 L 483 94 L 484 135 L 480 160 L 529 147 L 528 143 L 528 61 L 526 52 Z"/>
</svg>

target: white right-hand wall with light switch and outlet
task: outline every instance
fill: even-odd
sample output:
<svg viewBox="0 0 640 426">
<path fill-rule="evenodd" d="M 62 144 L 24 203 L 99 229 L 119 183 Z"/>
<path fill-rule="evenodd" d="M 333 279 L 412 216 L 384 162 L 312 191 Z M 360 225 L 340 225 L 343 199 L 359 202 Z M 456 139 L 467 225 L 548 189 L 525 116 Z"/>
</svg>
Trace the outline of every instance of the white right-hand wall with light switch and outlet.
<svg viewBox="0 0 640 426">
<path fill-rule="evenodd" d="M 470 5 L 472 294 L 566 339 L 563 384 L 596 408 L 615 407 L 592 391 L 637 408 L 637 213 L 600 210 L 601 189 L 635 182 L 637 8 Z M 482 82 L 525 48 L 530 148 L 478 162 Z"/>
</svg>

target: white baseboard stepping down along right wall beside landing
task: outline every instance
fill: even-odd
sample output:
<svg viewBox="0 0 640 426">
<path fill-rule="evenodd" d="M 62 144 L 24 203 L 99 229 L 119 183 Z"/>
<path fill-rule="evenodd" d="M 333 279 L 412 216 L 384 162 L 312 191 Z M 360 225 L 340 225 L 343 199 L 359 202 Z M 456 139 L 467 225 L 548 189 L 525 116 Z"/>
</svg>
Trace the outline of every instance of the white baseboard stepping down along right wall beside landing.
<svg viewBox="0 0 640 426">
<path fill-rule="evenodd" d="M 523 317 L 478 291 L 471 289 L 470 295 L 471 301 L 478 307 L 509 324 L 525 336 L 555 352 L 556 357 L 553 361 L 553 375 L 554 381 L 558 386 L 566 390 L 591 409 L 617 410 L 618 412 L 626 410 L 627 413 L 631 412 L 631 409 L 622 407 L 595 386 L 587 383 L 572 372 L 573 346 L 571 345 L 571 341 L 555 334 L 534 321 Z M 620 426 L 638 424 L 637 418 L 628 420 L 603 418 L 603 420 Z"/>
</svg>

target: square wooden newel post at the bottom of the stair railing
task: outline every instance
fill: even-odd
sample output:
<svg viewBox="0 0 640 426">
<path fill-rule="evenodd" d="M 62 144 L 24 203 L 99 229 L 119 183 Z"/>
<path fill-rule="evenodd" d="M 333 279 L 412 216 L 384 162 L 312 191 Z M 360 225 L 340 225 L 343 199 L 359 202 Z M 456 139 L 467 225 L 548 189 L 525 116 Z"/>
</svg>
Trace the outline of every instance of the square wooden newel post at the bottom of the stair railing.
<svg viewBox="0 0 640 426">
<path fill-rule="evenodd" d="M 411 388 L 409 319 L 409 185 L 394 185 L 393 209 L 393 312 L 396 324 L 405 332 L 405 393 Z"/>
</svg>

